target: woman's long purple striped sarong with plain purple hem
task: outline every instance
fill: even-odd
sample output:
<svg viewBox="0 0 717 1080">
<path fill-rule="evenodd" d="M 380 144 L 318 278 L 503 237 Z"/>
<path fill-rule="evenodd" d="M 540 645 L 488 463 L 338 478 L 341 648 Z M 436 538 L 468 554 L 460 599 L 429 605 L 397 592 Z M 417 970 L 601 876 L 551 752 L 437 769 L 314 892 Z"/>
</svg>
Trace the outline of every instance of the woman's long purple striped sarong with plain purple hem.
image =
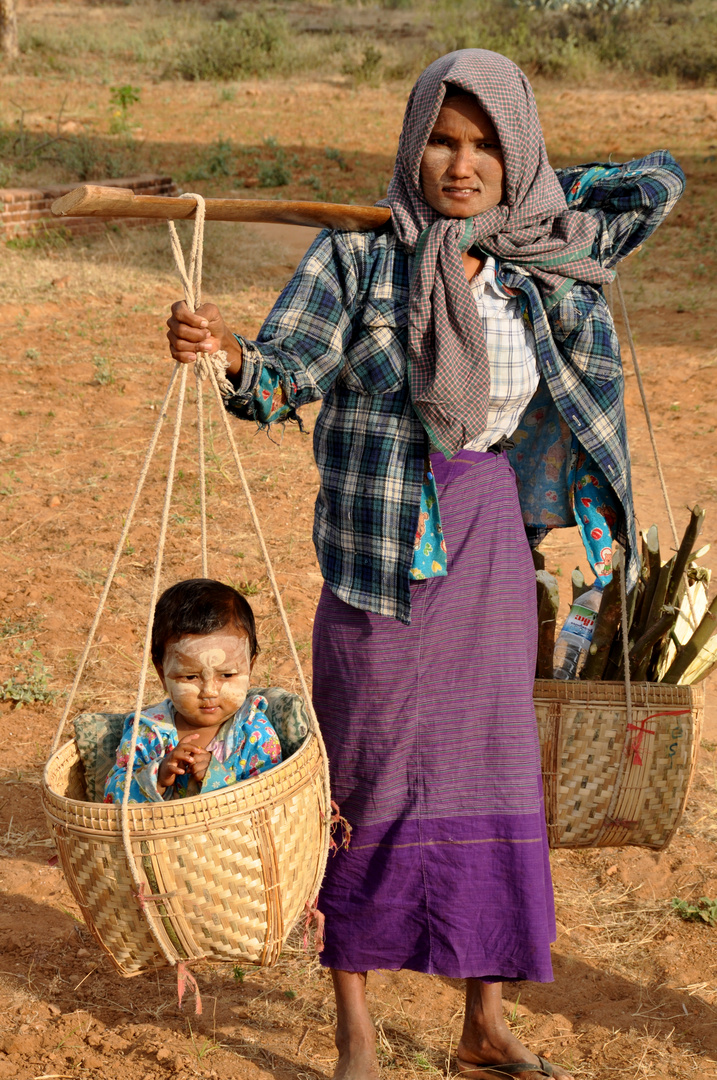
<svg viewBox="0 0 717 1080">
<path fill-rule="evenodd" d="M 353 827 L 329 856 L 322 962 L 552 978 L 555 916 L 532 706 L 535 570 L 508 459 L 432 457 L 448 576 L 410 626 L 324 585 L 313 693 Z"/>
</svg>

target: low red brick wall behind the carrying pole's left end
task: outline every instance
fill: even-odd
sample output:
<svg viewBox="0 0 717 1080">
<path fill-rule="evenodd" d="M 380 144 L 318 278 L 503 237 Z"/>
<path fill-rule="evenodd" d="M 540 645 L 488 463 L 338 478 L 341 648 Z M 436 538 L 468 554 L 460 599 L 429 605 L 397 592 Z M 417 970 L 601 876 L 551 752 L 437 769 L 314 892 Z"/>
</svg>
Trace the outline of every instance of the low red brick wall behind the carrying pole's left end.
<svg viewBox="0 0 717 1080">
<path fill-rule="evenodd" d="M 132 188 L 143 195 L 178 195 L 179 188 L 171 176 L 125 176 L 117 180 L 93 180 L 103 188 Z M 50 207 L 55 199 L 77 188 L 77 184 L 58 184 L 45 188 L 0 188 L 0 239 L 31 237 L 45 229 L 65 229 L 72 235 L 87 235 L 104 232 L 110 218 L 104 217 L 53 217 Z M 163 225 L 163 221 L 146 217 L 116 218 L 123 225 Z"/>
</svg>

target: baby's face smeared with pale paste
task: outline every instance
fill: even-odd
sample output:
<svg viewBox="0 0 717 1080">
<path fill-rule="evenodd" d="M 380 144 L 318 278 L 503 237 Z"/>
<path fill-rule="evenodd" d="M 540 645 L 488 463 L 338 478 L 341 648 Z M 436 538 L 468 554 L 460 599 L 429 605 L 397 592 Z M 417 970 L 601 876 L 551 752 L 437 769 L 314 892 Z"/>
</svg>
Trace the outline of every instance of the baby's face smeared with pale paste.
<svg viewBox="0 0 717 1080">
<path fill-rule="evenodd" d="M 234 626 L 213 634 L 186 634 L 164 650 L 157 673 L 191 728 L 218 727 L 246 698 L 252 661 L 249 639 Z"/>
</svg>

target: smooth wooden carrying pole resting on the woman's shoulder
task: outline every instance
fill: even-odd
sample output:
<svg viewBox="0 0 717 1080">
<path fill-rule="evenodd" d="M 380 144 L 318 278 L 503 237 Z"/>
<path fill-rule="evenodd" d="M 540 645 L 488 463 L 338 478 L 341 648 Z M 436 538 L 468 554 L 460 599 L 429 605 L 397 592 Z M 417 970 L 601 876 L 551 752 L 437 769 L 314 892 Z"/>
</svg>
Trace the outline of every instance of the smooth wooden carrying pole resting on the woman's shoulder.
<svg viewBox="0 0 717 1080">
<path fill-rule="evenodd" d="M 83 184 L 52 204 L 55 217 L 193 218 L 193 199 L 136 195 L 130 188 L 100 188 Z M 274 199 L 207 199 L 207 221 L 267 221 L 368 232 L 391 217 L 388 206 L 347 206 L 341 203 L 286 202 Z"/>
</svg>

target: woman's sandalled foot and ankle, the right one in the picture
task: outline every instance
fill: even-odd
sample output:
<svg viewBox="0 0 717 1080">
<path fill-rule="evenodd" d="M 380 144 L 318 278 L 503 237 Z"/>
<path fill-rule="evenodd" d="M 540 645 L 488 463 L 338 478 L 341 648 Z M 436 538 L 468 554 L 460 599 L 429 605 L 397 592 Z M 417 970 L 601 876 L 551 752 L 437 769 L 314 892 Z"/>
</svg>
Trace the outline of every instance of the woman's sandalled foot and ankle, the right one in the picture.
<svg viewBox="0 0 717 1080">
<path fill-rule="evenodd" d="M 458 1057 L 463 1063 L 476 1063 L 475 1078 L 483 1080 L 481 1065 L 505 1065 L 509 1062 L 525 1062 L 538 1065 L 538 1057 L 523 1045 L 503 1020 L 500 983 L 484 983 L 479 978 L 465 981 L 465 1020 L 458 1043 Z M 515 1080 L 538 1080 L 540 1074 L 517 1072 Z M 473 1076 L 473 1070 L 471 1070 Z M 572 1074 L 553 1065 L 556 1080 L 573 1080 Z M 485 1074 L 485 1080 L 497 1080 L 495 1074 Z"/>
</svg>

